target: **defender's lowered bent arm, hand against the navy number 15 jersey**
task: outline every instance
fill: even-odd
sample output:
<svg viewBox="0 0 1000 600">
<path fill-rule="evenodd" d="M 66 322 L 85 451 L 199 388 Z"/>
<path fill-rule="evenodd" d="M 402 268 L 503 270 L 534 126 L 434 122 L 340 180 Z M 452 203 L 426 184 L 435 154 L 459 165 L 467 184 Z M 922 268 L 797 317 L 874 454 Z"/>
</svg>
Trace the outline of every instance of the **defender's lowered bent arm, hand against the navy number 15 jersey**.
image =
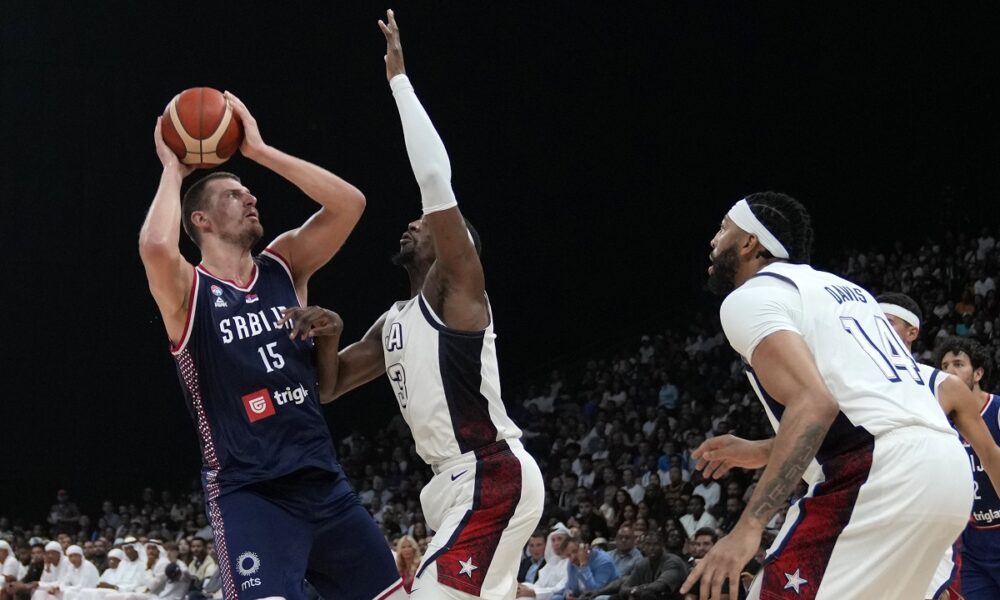
<svg viewBox="0 0 1000 600">
<path fill-rule="evenodd" d="M 316 339 L 316 371 L 319 399 L 323 404 L 360 387 L 385 373 L 382 357 L 382 325 L 385 315 L 365 333 L 359 341 L 339 349 L 340 334 L 344 323 L 337 313 L 319 306 L 290 308 L 284 312 L 278 325 L 294 323 L 289 336 L 292 339 Z"/>
</svg>

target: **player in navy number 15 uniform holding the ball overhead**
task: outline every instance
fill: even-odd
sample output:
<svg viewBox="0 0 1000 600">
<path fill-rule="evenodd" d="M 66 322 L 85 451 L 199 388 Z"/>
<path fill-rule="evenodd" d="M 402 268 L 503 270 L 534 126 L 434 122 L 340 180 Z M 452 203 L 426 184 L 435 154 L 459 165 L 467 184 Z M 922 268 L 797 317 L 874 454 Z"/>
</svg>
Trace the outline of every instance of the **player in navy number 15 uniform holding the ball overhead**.
<svg viewBox="0 0 1000 600">
<path fill-rule="evenodd" d="M 310 340 L 291 340 L 281 311 L 299 306 L 310 276 L 351 233 L 365 199 L 336 175 L 264 143 L 244 104 L 244 156 L 320 205 L 260 254 L 257 199 L 216 172 L 181 199 L 191 169 L 154 132 L 163 164 L 139 234 L 139 253 L 163 316 L 198 430 L 202 483 L 227 600 L 405 598 L 395 562 L 334 455 L 319 406 Z M 189 264 L 183 225 L 201 249 Z"/>
</svg>

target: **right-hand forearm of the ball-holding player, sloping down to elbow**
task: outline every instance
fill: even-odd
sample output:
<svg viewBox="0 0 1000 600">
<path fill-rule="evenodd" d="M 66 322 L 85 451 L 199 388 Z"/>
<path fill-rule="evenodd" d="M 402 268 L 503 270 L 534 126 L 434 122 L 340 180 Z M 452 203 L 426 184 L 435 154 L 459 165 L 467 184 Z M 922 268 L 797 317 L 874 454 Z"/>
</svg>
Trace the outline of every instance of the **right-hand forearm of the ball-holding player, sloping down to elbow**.
<svg viewBox="0 0 1000 600">
<path fill-rule="evenodd" d="M 271 146 L 254 153 L 253 160 L 295 184 L 323 208 L 358 216 L 364 210 L 365 197 L 361 191 L 322 167 Z"/>
</svg>

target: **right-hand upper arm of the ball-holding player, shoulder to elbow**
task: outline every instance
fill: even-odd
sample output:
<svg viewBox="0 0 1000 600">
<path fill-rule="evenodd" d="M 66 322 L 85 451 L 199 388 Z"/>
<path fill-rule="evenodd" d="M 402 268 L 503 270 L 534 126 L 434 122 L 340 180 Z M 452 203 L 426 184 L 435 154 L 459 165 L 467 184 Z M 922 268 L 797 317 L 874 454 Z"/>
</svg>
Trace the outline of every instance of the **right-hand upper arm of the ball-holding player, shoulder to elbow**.
<svg viewBox="0 0 1000 600">
<path fill-rule="evenodd" d="M 269 248 L 288 261 L 296 287 L 301 287 L 320 267 L 333 258 L 354 230 L 364 207 L 332 211 L 321 208 L 301 227 L 286 231 Z"/>
</svg>

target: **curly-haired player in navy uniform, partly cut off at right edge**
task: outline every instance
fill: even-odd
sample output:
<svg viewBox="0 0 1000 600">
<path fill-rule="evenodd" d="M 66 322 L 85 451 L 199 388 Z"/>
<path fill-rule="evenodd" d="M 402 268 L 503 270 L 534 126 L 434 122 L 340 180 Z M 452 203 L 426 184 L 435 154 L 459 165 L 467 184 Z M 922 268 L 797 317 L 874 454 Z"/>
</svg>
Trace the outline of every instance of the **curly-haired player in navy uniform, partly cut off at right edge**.
<svg viewBox="0 0 1000 600">
<path fill-rule="evenodd" d="M 980 387 L 989 375 L 989 354 L 975 341 L 956 337 L 939 343 L 935 355 L 942 371 L 959 378 L 975 393 L 983 421 L 1000 444 L 1000 398 Z M 975 499 L 969 524 L 962 532 L 961 591 L 966 600 L 992 600 L 1000 598 L 1000 486 L 996 480 L 990 481 L 986 455 L 978 455 L 968 444 L 966 451 Z"/>
</svg>

